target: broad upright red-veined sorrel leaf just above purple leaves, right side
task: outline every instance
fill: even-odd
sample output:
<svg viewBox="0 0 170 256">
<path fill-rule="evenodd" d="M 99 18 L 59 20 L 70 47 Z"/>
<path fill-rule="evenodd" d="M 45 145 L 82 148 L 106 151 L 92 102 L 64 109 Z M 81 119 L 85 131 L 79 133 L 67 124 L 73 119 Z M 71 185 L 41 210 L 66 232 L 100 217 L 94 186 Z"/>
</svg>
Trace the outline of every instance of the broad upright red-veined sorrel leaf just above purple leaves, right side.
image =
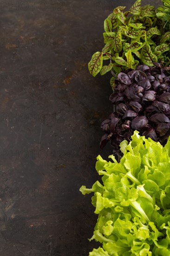
<svg viewBox="0 0 170 256">
<path fill-rule="evenodd" d="M 157 56 L 152 53 L 149 44 L 145 44 L 141 51 L 141 59 L 144 64 L 153 66 L 153 62 L 157 61 Z"/>
</svg>

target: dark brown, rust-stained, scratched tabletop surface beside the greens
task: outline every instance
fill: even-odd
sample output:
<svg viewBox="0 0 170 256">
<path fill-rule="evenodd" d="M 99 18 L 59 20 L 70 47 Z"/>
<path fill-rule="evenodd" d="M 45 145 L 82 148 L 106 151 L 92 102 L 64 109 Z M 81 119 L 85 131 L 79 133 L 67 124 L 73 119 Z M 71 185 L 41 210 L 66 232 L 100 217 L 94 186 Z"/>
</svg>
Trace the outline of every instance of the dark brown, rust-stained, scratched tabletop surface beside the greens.
<svg viewBox="0 0 170 256">
<path fill-rule="evenodd" d="M 103 22 L 134 1 L 1 0 L 0 256 L 87 256 L 97 216 L 81 185 L 96 181 L 111 75 L 88 61 Z M 144 1 L 156 5 L 157 1 Z"/>
</svg>

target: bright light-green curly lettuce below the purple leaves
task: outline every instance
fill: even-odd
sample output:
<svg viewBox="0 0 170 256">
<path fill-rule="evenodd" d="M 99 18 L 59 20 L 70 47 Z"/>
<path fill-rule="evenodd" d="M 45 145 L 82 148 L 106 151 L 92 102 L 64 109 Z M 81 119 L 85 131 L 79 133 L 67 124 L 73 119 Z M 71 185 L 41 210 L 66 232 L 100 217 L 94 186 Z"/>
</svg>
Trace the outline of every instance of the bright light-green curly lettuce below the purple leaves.
<svg viewBox="0 0 170 256">
<path fill-rule="evenodd" d="M 102 183 L 80 188 L 83 195 L 94 193 L 98 221 L 89 240 L 103 246 L 89 256 L 170 255 L 170 137 L 164 147 L 137 131 L 131 139 L 121 142 L 119 163 L 98 155 Z"/>
</svg>

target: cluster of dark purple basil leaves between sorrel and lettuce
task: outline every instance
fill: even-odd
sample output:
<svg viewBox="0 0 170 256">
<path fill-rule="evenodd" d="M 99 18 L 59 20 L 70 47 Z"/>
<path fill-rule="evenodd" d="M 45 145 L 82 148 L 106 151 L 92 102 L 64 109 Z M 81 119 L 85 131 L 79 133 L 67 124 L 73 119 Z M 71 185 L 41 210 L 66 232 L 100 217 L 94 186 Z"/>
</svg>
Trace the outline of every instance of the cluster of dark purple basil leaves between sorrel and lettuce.
<svg viewBox="0 0 170 256">
<path fill-rule="evenodd" d="M 120 153 L 120 142 L 130 141 L 135 130 L 162 145 L 166 143 L 170 135 L 170 76 L 166 71 L 170 67 L 157 62 L 154 66 L 139 65 L 136 70 L 118 74 L 109 98 L 116 111 L 101 124 L 105 135 L 100 148 L 111 141 L 113 154 Z"/>
</svg>

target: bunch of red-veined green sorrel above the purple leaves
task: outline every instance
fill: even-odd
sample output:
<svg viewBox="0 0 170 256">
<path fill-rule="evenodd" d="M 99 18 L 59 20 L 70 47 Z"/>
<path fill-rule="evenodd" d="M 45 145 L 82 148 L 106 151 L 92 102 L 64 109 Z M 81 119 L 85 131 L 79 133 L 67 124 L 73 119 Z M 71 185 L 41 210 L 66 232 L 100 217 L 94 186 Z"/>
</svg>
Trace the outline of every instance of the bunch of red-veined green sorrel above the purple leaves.
<svg viewBox="0 0 170 256">
<path fill-rule="evenodd" d="M 153 62 L 158 61 L 163 66 L 168 66 L 170 64 L 170 0 L 163 0 L 163 4 L 163 7 L 156 10 L 151 5 L 141 7 L 141 0 L 137 0 L 129 11 L 124 12 L 124 6 L 116 7 L 104 21 L 105 46 L 102 53 L 97 52 L 97 55 L 92 55 L 92 60 L 89 62 L 90 73 L 96 76 L 105 60 L 113 64 L 111 73 L 115 77 L 128 68 L 137 67 L 138 64 L 153 66 Z M 110 55 L 102 58 L 106 53 Z M 101 75 L 104 73 L 100 72 Z"/>
</svg>

